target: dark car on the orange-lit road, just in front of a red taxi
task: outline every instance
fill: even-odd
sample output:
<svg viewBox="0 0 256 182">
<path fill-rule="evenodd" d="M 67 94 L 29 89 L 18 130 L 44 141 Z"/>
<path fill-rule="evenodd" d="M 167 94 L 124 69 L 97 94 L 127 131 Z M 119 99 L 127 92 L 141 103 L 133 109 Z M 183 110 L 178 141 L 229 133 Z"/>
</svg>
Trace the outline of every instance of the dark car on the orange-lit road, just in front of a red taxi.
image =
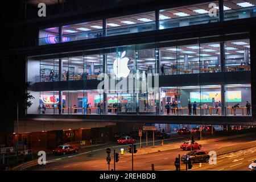
<svg viewBox="0 0 256 182">
<path fill-rule="evenodd" d="M 207 151 L 193 150 L 181 157 L 181 162 L 185 163 L 190 159 L 191 163 L 208 163 L 210 155 Z"/>
</svg>

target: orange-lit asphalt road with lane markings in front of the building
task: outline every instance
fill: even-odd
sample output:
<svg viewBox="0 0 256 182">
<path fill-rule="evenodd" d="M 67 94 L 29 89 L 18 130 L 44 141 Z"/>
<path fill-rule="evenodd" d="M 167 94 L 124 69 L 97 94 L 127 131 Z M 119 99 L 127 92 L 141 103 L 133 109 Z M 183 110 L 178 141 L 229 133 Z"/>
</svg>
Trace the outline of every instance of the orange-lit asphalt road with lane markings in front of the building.
<svg viewBox="0 0 256 182">
<path fill-rule="evenodd" d="M 181 138 L 182 137 L 182 138 Z M 177 140 L 184 140 L 188 136 L 174 136 L 169 142 L 175 142 Z M 219 142 L 212 142 L 204 144 L 202 150 L 214 151 L 218 148 L 230 146 L 234 144 L 240 144 L 244 142 L 250 142 L 256 140 L 256 136 L 243 137 L 230 140 L 222 140 Z M 137 145 L 138 146 L 138 145 Z M 108 146 L 109 147 L 109 146 Z M 112 150 L 127 146 L 111 146 Z M 47 163 L 46 165 L 31 168 L 30 170 L 51 170 L 51 171 L 107 171 L 108 164 L 106 163 L 106 146 L 98 146 L 91 148 L 89 151 L 81 152 L 80 154 L 67 155 L 64 158 L 54 159 L 52 162 Z M 88 149 L 87 149 L 88 150 Z M 120 151 L 120 150 L 119 150 Z M 247 170 L 248 165 L 253 160 L 253 156 L 256 156 L 256 150 L 251 150 L 246 157 L 243 157 L 242 154 L 236 154 L 237 161 L 229 159 L 229 155 L 219 156 L 217 159 L 217 164 L 209 166 L 208 164 L 203 164 L 202 167 L 199 167 L 199 164 L 194 164 L 192 170 Z M 175 170 L 174 160 L 180 154 L 183 155 L 187 151 L 182 151 L 180 149 L 168 150 L 162 152 L 155 152 L 151 154 L 136 155 L 134 154 L 134 170 L 151 170 L 151 164 L 154 164 L 155 170 Z M 221 158 L 222 157 L 222 158 Z M 240 160 L 239 160 L 240 159 Z M 221 161 L 222 160 L 222 161 Z M 250 162 L 249 162 L 250 160 Z M 241 164 L 239 164 L 241 163 Z M 234 165 L 232 165 L 234 164 Z M 237 165 L 236 165 L 237 164 Z M 110 163 L 110 169 L 113 168 L 113 152 L 112 152 L 112 162 Z M 185 166 L 182 165 L 181 169 L 184 169 Z M 131 170 L 131 156 L 121 156 L 119 162 L 116 164 L 116 170 L 120 171 L 130 171 Z"/>
</svg>

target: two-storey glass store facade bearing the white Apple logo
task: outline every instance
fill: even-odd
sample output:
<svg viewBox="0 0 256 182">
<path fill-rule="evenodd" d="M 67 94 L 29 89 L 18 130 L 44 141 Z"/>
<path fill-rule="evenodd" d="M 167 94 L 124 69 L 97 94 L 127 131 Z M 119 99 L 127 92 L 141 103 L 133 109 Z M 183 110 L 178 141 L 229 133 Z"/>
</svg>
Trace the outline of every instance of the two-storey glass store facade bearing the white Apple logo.
<svg viewBox="0 0 256 182">
<path fill-rule="evenodd" d="M 250 78 L 236 85 L 205 84 L 201 78 L 250 71 L 249 39 L 210 39 L 28 57 L 27 81 L 36 86 L 27 113 L 250 115 Z M 188 74 L 193 77 L 185 83 L 175 77 Z M 168 75 L 174 76 L 170 83 L 164 77 Z"/>
</svg>

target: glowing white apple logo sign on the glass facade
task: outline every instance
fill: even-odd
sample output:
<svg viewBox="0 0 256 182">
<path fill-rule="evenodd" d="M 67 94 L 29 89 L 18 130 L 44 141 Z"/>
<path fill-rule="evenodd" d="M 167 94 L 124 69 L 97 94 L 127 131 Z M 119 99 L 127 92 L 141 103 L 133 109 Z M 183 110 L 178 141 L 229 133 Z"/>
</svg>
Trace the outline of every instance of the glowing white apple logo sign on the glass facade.
<svg viewBox="0 0 256 182">
<path fill-rule="evenodd" d="M 113 69 L 115 76 L 117 78 L 127 77 L 130 73 L 130 69 L 128 68 L 128 61 L 130 60 L 128 57 L 125 57 L 126 51 L 123 51 L 120 57 L 120 52 L 118 52 L 118 58 L 114 60 Z"/>
</svg>

